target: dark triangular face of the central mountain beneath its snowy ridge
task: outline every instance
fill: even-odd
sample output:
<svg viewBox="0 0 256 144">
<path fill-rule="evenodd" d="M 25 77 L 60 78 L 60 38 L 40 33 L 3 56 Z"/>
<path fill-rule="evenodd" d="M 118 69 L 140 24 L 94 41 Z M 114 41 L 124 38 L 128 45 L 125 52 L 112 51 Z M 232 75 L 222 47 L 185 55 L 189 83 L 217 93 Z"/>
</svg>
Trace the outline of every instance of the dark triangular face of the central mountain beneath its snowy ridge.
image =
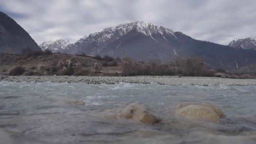
<svg viewBox="0 0 256 144">
<path fill-rule="evenodd" d="M 132 30 L 127 35 L 105 46 L 99 54 L 130 57 L 138 61 L 171 60 L 174 57 L 173 49 L 168 47 L 167 44 L 159 43 L 159 41 L 159 37 L 158 41 L 155 41 L 151 37 Z"/>
</svg>

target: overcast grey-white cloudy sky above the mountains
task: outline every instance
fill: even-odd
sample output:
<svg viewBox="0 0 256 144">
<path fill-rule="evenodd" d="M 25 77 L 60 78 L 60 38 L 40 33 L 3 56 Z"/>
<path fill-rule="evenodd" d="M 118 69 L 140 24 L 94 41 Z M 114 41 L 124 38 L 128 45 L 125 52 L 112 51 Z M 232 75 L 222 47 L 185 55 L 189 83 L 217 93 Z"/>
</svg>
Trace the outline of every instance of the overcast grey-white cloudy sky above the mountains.
<svg viewBox="0 0 256 144">
<path fill-rule="evenodd" d="M 256 0 L 0 0 L 0 11 L 37 44 L 141 20 L 223 45 L 256 38 Z"/>
</svg>

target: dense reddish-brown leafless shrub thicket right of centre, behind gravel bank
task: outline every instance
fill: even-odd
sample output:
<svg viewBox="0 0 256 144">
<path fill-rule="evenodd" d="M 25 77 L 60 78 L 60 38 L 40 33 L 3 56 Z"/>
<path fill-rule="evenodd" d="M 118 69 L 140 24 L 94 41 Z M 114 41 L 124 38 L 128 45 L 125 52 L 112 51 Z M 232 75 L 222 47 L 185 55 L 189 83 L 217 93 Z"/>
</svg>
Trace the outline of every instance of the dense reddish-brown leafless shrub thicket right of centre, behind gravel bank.
<svg viewBox="0 0 256 144">
<path fill-rule="evenodd" d="M 183 76 L 213 76 L 213 72 L 206 67 L 201 59 L 185 58 L 175 59 L 174 62 L 160 63 L 137 62 L 131 59 L 123 59 L 119 64 L 122 76 L 136 75 L 183 75 Z"/>
</svg>

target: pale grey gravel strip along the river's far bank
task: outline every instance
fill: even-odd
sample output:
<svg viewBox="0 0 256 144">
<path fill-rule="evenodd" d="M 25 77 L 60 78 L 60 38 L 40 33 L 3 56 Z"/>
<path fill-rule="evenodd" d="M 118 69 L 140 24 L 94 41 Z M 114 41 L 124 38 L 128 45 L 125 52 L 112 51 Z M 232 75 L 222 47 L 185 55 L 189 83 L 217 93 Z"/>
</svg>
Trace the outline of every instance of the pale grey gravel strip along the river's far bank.
<svg viewBox="0 0 256 144">
<path fill-rule="evenodd" d="M 177 77 L 177 76 L 134 76 L 134 77 L 109 77 L 109 76 L 0 76 L 0 81 L 12 82 L 84 82 L 88 84 L 115 84 L 127 83 L 159 83 L 165 85 L 256 85 L 256 79 L 229 79 L 216 77 Z"/>
</svg>

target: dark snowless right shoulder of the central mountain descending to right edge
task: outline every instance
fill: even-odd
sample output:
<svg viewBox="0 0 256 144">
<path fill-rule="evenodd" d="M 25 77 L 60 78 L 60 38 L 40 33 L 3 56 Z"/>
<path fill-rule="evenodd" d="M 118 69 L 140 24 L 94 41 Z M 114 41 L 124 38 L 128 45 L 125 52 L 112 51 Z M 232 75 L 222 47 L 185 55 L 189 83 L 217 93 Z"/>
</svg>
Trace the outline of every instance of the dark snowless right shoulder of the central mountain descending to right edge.
<svg viewBox="0 0 256 144">
<path fill-rule="evenodd" d="M 226 45 L 195 40 L 181 32 L 175 32 L 175 36 L 179 39 L 179 49 L 200 56 L 214 68 L 231 69 L 256 62 L 256 52 L 252 50 L 234 49 Z"/>
</svg>

